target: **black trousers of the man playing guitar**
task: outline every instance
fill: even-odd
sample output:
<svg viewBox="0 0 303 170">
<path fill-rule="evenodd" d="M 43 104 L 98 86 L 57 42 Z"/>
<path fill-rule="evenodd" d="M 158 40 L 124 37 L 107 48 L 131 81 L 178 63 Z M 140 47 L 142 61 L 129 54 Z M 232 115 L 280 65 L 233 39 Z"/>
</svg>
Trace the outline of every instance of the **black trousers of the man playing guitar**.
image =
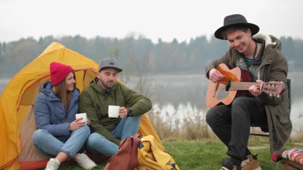
<svg viewBox="0 0 303 170">
<path fill-rule="evenodd" d="M 251 155 L 247 148 L 250 125 L 268 126 L 264 104 L 255 97 L 237 97 L 231 105 L 209 109 L 206 122 L 228 147 L 227 155 L 237 165 Z"/>
</svg>

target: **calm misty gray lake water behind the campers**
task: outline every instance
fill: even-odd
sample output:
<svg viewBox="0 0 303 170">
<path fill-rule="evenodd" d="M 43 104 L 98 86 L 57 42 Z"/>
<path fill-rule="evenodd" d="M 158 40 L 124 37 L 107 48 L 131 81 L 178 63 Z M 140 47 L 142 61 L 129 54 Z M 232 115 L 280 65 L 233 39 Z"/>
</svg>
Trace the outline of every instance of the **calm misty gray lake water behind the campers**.
<svg viewBox="0 0 303 170">
<path fill-rule="evenodd" d="M 138 77 L 121 76 L 121 80 L 130 88 L 139 91 Z M 292 111 L 291 120 L 297 130 L 303 127 L 303 72 L 289 72 L 292 79 Z M 10 78 L 0 78 L 0 92 Z M 153 103 L 153 111 L 158 112 L 163 119 L 173 121 L 184 116 L 200 115 L 205 118 L 205 94 L 209 81 L 204 73 L 199 74 L 159 74 L 148 75 L 144 85 L 145 95 Z M 148 92 L 147 92 L 148 91 Z"/>
</svg>

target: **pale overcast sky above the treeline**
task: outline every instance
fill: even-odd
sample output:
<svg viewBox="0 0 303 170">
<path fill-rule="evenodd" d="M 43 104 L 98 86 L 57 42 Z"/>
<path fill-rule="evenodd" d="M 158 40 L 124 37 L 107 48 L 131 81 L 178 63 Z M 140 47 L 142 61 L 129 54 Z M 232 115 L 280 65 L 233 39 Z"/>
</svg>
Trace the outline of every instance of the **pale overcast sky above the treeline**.
<svg viewBox="0 0 303 170">
<path fill-rule="evenodd" d="M 260 32 L 303 39 L 303 0 L 0 0 L 0 42 L 53 35 L 157 42 L 210 37 L 226 15 L 240 13 Z"/>
</svg>

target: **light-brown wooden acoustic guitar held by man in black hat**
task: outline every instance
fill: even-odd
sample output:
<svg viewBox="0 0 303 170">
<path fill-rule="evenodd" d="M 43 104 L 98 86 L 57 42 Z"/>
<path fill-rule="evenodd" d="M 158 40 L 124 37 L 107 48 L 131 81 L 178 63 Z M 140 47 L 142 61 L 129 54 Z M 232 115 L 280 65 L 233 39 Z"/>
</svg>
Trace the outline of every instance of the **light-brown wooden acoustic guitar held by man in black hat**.
<svg viewBox="0 0 303 170">
<path fill-rule="evenodd" d="M 249 72 L 243 71 L 238 67 L 230 70 L 225 64 L 220 64 L 216 69 L 225 77 L 216 83 L 209 81 L 206 94 L 206 105 L 208 108 L 214 107 L 220 102 L 229 105 L 235 97 L 247 96 L 251 85 L 258 85 L 261 91 L 277 97 L 285 89 L 283 82 L 250 82 L 251 75 Z"/>
</svg>

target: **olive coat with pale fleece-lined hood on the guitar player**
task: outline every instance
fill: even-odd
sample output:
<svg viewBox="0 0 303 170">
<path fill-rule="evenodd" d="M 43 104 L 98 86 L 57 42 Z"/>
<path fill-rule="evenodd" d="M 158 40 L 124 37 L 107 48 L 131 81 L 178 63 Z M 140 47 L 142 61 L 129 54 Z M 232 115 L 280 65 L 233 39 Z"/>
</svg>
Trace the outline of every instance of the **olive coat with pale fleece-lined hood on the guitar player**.
<svg viewBox="0 0 303 170">
<path fill-rule="evenodd" d="M 281 42 L 274 36 L 257 34 L 253 39 L 261 38 L 265 40 L 265 49 L 263 53 L 262 63 L 259 68 L 259 80 L 264 82 L 279 81 L 286 85 L 288 65 L 286 57 L 281 53 Z M 240 57 L 238 52 L 230 48 L 224 56 L 213 61 L 205 69 L 206 77 L 208 72 L 216 68 L 219 64 L 225 63 L 232 68 L 237 67 L 237 58 Z M 288 116 L 288 108 L 290 100 L 288 98 L 288 87 L 280 97 L 270 96 L 262 93 L 257 96 L 261 101 L 265 101 L 265 110 L 267 114 L 268 127 L 270 133 L 270 151 L 282 149 L 288 140 L 292 131 L 292 122 Z"/>
</svg>

